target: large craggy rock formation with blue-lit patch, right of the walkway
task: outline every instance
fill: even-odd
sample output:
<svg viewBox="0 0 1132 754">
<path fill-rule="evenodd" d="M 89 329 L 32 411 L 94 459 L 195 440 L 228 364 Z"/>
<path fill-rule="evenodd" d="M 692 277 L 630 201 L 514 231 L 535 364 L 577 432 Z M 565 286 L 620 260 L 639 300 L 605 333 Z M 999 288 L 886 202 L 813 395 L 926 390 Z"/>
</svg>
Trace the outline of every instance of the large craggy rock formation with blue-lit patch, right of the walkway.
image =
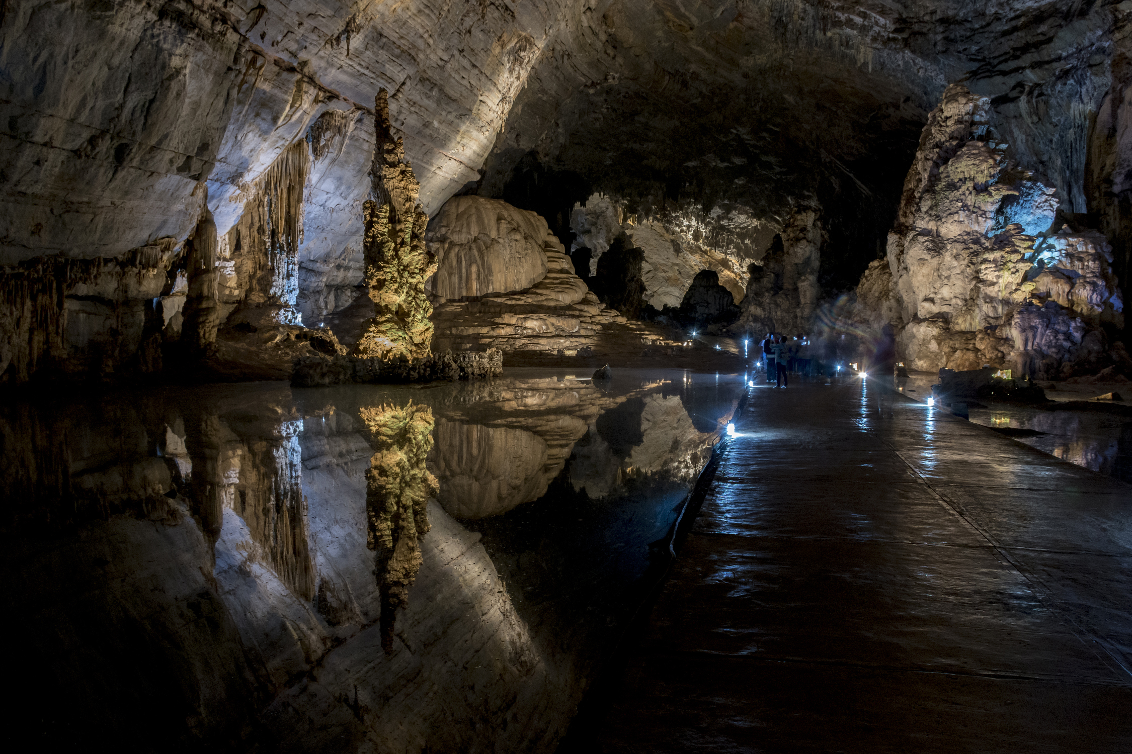
<svg viewBox="0 0 1132 754">
<path fill-rule="evenodd" d="M 1069 376 L 1104 353 L 1101 324 L 1123 327 L 1112 250 L 1055 222 L 1054 190 L 1009 158 L 989 104 L 961 85 L 944 93 L 858 304 L 898 328 L 911 369 Z"/>
</svg>

